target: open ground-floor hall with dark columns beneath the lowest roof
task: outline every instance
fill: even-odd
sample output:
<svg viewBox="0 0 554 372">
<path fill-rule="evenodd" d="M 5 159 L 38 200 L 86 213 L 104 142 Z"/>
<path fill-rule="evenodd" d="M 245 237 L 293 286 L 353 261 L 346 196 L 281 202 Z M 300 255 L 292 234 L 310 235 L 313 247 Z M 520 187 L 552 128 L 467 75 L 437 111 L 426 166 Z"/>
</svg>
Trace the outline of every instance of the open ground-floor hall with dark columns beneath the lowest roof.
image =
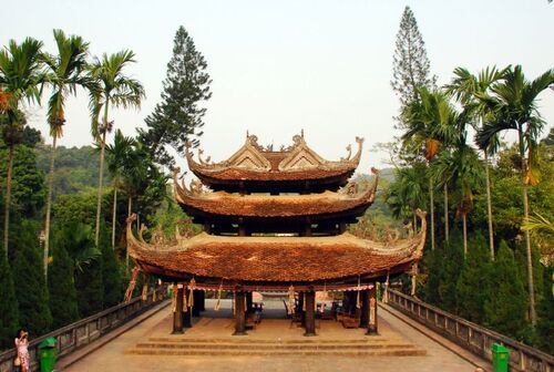
<svg viewBox="0 0 554 372">
<path fill-rule="evenodd" d="M 304 330 L 305 337 L 316 337 L 321 322 L 336 322 L 345 329 L 362 328 L 367 335 L 378 334 L 377 283 L 341 292 L 294 291 L 293 287 L 288 292 L 214 292 L 177 283 L 174 293 L 173 334 L 184 333 L 199 318 L 232 320 L 233 335 L 256 332 L 266 320 L 288 321 L 289 328 Z"/>
</svg>

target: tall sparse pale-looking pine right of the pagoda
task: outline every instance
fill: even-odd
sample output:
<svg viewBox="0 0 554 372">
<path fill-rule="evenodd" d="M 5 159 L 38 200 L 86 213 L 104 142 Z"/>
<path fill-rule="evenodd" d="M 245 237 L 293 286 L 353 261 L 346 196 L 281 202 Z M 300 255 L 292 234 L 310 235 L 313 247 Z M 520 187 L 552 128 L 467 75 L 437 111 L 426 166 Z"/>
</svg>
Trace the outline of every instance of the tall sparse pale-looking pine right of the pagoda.
<svg viewBox="0 0 554 372">
<path fill-rule="evenodd" d="M 390 84 L 400 99 L 402 112 L 410 102 L 419 100 L 419 87 L 425 86 L 432 91 L 437 81 L 437 76 L 430 74 L 425 43 L 410 7 L 406 7 L 402 13 L 396 45 Z M 400 127 L 403 127 L 402 123 Z"/>
</svg>

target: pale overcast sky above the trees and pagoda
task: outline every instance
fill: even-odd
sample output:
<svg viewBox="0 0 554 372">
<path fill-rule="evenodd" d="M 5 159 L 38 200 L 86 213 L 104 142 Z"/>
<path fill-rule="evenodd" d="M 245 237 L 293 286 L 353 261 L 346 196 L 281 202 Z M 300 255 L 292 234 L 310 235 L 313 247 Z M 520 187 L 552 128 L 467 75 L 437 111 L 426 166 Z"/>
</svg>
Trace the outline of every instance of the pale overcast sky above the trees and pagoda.
<svg viewBox="0 0 554 372">
<path fill-rule="evenodd" d="M 52 29 L 82 35 L 95 55 L 131 49 L 129 73 L 145 86 L 140 111 L 114 112 L 115 126 L 134 135 L 160 100 L 175 31 L 184 25 L 208 63 L 213 97 L 202 147 L 227 158 L 246 131 L 260 144 L 289 145 L 304 128 L 308 144 L 329 159 L 366 138 L 361 169 L 381 166 L 370 153 L 391 141 L 398 99 L 390 89 L 392 54 L 406 6 L 416 14 L 439 84 L 452 70 L 472 72 L 522 64 L 527 78 L 554 68 L 554 3 L 486 1 L 62 1 L 23 0 L 2 7 L 0 44 L 24 37 L 53 52 Z M 541 95 L 554 122 L 554 92 Z M 69 101 L 65 146 L 91 143 L 86 96 Z M 45 132 L 44 114 L 31 125 Z M 50 142 L 50 140 L 48 140 Z"/>
</svg>

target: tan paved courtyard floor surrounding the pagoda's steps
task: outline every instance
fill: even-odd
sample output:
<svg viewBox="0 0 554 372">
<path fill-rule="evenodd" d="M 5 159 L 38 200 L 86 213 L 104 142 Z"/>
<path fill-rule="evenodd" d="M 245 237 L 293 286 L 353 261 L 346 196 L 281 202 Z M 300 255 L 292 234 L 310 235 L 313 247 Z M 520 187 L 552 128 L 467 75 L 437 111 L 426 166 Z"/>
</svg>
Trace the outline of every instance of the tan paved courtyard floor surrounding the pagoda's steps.
<svg viewBox="0 0 554 372">
<path fill-rule="evenodd" d="M 207 301 L 207 307 L 212 303 Z M 223 312 L 222 312 L 223 313 Z M 147 319 L 140 327 L 129 330 L 127 332 L 115 338 L 110 343 L 105 344 L 98 351 L 83 358 L 81 361 L 74 363 L 65 371 L 75 372 L 115 372 L 115 371 L 214 371 L 214 372 L 247 372 L 247 371 L 383 371 L 383 372 L 430 372 L 430 371 L 455 371 L 455 372 L 473 372 L 475 366 L 472 363 L 463 360 L 455 353 L 451 352 L 447 348 L 425 337 L 423 333 L 419 332 L 414 328 L 402 322 L 398 318 L 393 317 L 386 311 L 380 311 L 379 313 L 379 324 L 380 329 L 383 331 L 398 334 L 401 339 L 408 340 L 409 342 L 416 344 L 417 347 L 424 349 L 428 353 L 425 356 L 311 356 L 311 355 L 293 355 L 293 356 L 217 356 L 217 355 L 206 355 L 206 356 L 188 356 L 188 355 L 129 355 L 125 354 L 125 350 L 132 348 L 136 343 L 144 341 L 152 337 L 168 337 L 171 328 L 171 309 L 167 308 L 160 311 L 152 318 Z M 270 319 L 264 319 L 264 322 L 268 322 Z M 215 318 L 211 320 L 216 324 L 222 326 L 220 337 L 227 338 L 228 333 L 232 332 L 233 322 L 229 319 Z M 283 320 L 280 320 L 283 321 Z M 269 323 L 269 322 L 268 322 Z M 273 329 L 273 327 L 270 327 Z M 197 328 L 196 328 L 197 329 Z M 261 328 L 260 328 L 261 329 Z M 193 328 L 194 330 L 194 328 Z M 188 330 L 192 332 L 192 330 Z M 331 333 L 337 332 L 334 337 L 343 337 L 348 339 L 343 333 L 353 331 L 360 334 L 355 334 L 356 338 L 362 338 L 363 330 L 342 330 L 337 327 L 334 328 L 324 327 L 321 328 L 321 338 L 330 337 Z M 201 332 L 199 330 L 195 332 Z M 274 331 L 271 331 L 274 332 Z M 287 337 L 287 332 L 298 332 L 301 334 L 302 330 L 298 329 L 285 329 L 275 330 L 275 334 Z M 256 331 L 252 332 L 250 335 L 246 338 L 256 339 Z M 340 333 L 340 334 L 338 334 Z M 186 333 L 185 333 L 186 335 Z M 179 335 L 181 337 L 181 335 Z M 259 337 L 259 335 L 258 335 Z M 267 335 L 266 335 L 267 337 Z M 301 337 L 301 335 L 300 335 Z M 318 337 L 318 338 L 319 338 Z M 350 333 L 350 337 L 352 334 Z M 219 335 L 218 335 L 219 338 Z M 301 337 L 302 339 L 306 339 Z"/>
</svg>

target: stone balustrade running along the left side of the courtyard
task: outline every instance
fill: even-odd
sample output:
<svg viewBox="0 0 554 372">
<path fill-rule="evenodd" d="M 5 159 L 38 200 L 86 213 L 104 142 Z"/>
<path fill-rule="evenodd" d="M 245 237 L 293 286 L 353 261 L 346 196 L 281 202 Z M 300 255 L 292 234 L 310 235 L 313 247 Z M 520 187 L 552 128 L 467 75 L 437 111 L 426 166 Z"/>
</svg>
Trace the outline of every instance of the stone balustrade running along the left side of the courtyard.
<svg viewBox="0 0 554 372">
<path fill-rule="evenodd" d="M 145 310 L 160 303 L 163 299 L 163 289 L 156 290 L 155 299 L 151 291 L 146 300 L 142 300 L 141 296 L 132 299 L 129 303 L 120 303 L 112 308 L 105 309 L 89 318 L 81 319 L 74 323 L 57 329 L 48 334 L 41 335 L 29 342 L 30 371 L 39 370 L 39 343 L 47 338 L 54 337 L 58 339 L 57 349 L 58 358 L 66 355 L 76 349 L 80 349 L 101 335 L 112 331 L 113 329 L 124 324 L 125 322 L 136 318 Z M 7 350 L 0 353 L 0 372 L 14 372 L 13 359 L 16 359 L 16 350 Z"/>
</svg>

